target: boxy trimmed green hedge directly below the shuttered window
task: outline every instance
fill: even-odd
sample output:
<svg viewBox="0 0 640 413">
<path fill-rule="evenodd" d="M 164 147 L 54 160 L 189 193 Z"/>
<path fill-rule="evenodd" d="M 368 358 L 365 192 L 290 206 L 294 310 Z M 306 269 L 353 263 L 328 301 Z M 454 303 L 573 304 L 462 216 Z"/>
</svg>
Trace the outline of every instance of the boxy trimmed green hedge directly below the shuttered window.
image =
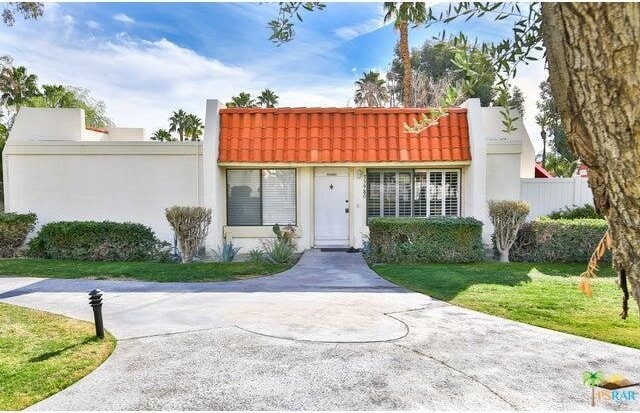
<svg viewBox="0 0 640 413">
<path fill-rule="evenodd" d="M 474 218 L 372 218 L 373 262 L 446 263 L 485 259 L 482 222 Z"/>
</svg>

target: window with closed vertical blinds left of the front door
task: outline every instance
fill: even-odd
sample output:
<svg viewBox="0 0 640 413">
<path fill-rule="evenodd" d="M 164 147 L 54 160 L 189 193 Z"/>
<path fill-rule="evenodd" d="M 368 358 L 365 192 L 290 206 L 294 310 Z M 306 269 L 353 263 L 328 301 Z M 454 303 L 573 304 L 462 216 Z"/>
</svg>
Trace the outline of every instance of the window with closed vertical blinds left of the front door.
<svg viewBox="0 0 640 413">
<path fill-rule="evenodd" d="M 227 225 L 296 224 L 294 169 L 227 171 Z"/>
</svg>

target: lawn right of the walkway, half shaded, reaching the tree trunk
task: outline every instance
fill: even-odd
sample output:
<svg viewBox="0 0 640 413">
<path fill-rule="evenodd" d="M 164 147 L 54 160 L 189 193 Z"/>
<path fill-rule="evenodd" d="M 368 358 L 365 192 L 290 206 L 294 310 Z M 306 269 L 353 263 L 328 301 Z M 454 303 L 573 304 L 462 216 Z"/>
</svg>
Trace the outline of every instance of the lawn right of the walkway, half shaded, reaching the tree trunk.
<svg viewBox="0 0 640 413">
<path fill-rule="evenodd" d="M 593 298 L 578 290 L 585 264 L 483 262 L 475 264 L 377 264 L 387 280 L 461 307 L 552 330 L 640 348 L 638 308 L 618 316 L 622 293 L 603 264 Z"/>
</svg>

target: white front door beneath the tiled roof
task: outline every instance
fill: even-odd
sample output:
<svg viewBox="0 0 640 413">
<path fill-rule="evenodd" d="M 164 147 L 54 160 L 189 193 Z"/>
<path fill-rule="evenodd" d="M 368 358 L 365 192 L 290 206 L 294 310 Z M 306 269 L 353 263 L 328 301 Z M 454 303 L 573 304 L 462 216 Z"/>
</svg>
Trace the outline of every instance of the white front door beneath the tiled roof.
<svg viewBox="0 0 640 413">
<path fill-rule="evenodd" d="M 349 245 L 349 170 L 315 169 L 315 245 Z"/>
</svg>

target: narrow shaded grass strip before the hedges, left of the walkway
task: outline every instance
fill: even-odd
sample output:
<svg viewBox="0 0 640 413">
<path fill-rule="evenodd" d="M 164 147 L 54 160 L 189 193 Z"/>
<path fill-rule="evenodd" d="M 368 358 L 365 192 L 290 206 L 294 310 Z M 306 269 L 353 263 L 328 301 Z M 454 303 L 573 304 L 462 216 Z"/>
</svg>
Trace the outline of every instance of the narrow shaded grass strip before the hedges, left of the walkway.
<svg viewBox="0 0 640 413">
<path fill-rule="evenodd" d="M 282 272 L 290 264 L 270 262 L 90 262 L 0 259 L 0 275 L 50 278 L 136 279 L 142 281 L 229 281 Z"/>
</svg>

